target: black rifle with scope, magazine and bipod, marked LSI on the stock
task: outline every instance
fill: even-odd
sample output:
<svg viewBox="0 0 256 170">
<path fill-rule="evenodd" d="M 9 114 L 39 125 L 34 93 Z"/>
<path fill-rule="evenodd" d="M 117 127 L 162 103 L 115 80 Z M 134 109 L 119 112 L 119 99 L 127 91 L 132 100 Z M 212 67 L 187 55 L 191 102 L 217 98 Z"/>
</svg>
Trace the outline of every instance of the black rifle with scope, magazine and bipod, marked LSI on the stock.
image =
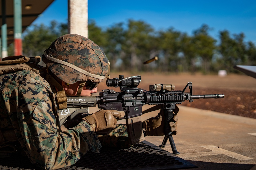
<svg viewBox="0 0 256 170">
<path fill-rule="evenodd" d="M 174 90 L 173 84 L 150 85 L 150 90 L 146 91 L 137 88 L 140 82 L 141 76 L 124 78 L 123 75 L 119 75 L 119 78 L 108 79 L 106 85 L 120 87 L 120 92 L 105 89 L 100 92 L 99 96 L 67 97 L 67 109 L 59 110 L 60 124 L 69 122 L 79 115 L 84 117 L 84 114 L 88 113 L 88 107 L 97 105 L 100 109 L 124 111 L 123 119 L 126 119 L 129 142 L 136 144 L 145 140 L 141 115 L 162 108 L 165 114 L 165 137 L 159 147 L 165 147 L 169 139 L 173 153 L 179 154 L 168 126 L 173 118 L 176 104 L 181 104 L 185 100 L 193 102 L 194 99 L 200 98 L 224 98 L 224 94 L 193 95 L 191 82 L 188 82 L 182 91 Z M 190 89 L 189 92 L 185 92 L 187 88 Z M 156 106 L 142 112 L 142 106 L 145 104 Z"/>
</svg>

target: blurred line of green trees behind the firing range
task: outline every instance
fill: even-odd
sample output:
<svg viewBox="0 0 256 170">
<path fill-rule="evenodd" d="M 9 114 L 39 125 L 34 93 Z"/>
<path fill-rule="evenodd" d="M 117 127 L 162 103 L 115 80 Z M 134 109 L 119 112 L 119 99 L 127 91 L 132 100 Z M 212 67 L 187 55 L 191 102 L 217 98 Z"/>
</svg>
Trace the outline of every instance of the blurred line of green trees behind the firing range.
<svg viewBox="0 0 256 170">
<path fill-rule="evenodd" d="M 243 33 L 230 35 L 228 30 L 219 31 L 216 40 L 209 35 L 212 28 L 206 24 L 191 35 L 172 27 L 156 31 L 150 24 L 132 19 L 104 29 L 90 20 L 88 29 L 89 39 L 103 49 L 112 71 L 230 73 L 236 72 L 235 65 L 256 64 L 255 44 L 245 42 Z M 67 33 L 67 23 L 33 25 L 23 33 L 23 54 L 41 56 L 51 42 Z M 8 52 L 13 54 L 12 45 Z M 158 60 L 143 64 L 155 56 Z"/>
</svg>

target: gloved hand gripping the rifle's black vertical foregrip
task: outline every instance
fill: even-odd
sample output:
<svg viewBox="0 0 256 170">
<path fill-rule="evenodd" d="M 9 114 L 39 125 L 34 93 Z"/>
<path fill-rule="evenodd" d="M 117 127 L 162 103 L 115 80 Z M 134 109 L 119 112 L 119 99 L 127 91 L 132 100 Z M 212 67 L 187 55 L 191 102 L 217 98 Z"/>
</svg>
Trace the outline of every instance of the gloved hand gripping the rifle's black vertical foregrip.
<svg viewBox="0 0 256 170">
<path fill-rule="evenodd" d="M 177 134 L 177 121 L 178 116 L 177 113 L 179 111 L 179 108 L 176 106 L 176 108 L 173 110 L 173 118 L 169 122 L 170 132 L 173 132 L 172 135 Z M 161 108 L 160 112 L 157 116 L 151 117 L 150 119 L 145 120 L 142 123 L 143 130 L 147 136 L 164 136 L 164 111 Z M 146 136 L 145 135 L 145 136 Z"/>
</svg>

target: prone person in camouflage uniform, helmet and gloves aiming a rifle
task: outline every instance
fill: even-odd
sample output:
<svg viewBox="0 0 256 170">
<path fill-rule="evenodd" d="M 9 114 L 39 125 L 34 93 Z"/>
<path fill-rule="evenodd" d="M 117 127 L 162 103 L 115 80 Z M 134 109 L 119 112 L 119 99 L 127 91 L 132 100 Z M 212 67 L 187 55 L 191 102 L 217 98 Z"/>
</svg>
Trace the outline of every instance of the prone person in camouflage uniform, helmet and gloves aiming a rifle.
<svg viewBox="0 0 256 170">
<path fill-rule="evenodd" d="M 40 57 L 10 56 L 0 61 L 0 156 L 23 154 L 43 169 L 76 163 L 102 146 L 129 147 L 121 113 L 100 110 L 62 131 L 58 110 L 66 96 L 90 96 L 109 78 L 110 62 L 94 42 L 77 34 L 57 38 Z M 163 114 L 143 122 L 145 135 L 162 136 Z M 170 130 L 176 134 L 175 115 Z M 88 160 L 89 161 L 89 160 Z"/>
</svg>

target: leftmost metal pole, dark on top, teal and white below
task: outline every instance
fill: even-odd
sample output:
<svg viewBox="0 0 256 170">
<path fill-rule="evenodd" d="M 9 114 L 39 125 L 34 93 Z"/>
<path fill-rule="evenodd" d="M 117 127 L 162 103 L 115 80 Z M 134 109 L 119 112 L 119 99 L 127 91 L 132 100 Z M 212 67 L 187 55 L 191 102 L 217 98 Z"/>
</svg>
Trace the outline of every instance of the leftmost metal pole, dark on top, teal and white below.
<svg viewBox="0 0 256 170">
<path fill-rule="evenodd" d="M 6 2 L 2 0 L 2 56 L 1 59 L 8 56 L 7 53 L 7 24 L 6 24 Z"/>
</svg>

